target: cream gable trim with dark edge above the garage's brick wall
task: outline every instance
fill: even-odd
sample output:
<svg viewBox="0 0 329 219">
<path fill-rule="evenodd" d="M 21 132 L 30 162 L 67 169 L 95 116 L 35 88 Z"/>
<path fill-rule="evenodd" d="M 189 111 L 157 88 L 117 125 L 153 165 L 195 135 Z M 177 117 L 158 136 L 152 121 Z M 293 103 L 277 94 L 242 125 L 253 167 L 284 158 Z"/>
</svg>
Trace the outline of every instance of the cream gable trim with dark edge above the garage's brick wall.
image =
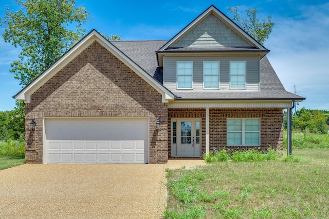
<svg viewBox="0 0 329 219">
<path fill-rule="evenodd" d="M 77 57 L 84 49 L 97 41 L 109 52 L 115 55 L 121 62 L 132 69 L 140 77 L 142 77 L 147 83 L 149 83 L 154 89 L 162 94 L 162 102 L 168 102 L 169 99 L 174 99 L 175 95 L 170 92 L 166 87 L 159 83 L 153 75 L 150 75 L 141 66 L 136 64 L 130 57 L 126 56 L 121 50 L 114 46 L 113 43 L 107 41 L 96 30 L 90 31 L 85 37 L 83 37 L 77 44 L 69 49 L 64 55 L 62 55 L 56 62 L 49 66 L 44 72 L 36 77 L 30 84 L 23 88 L 14 97 L 16 100 L 23 101 L 24 103 L 30 103 L 31 95 L 43 86 L 53 75 L 58 73 L 69 62 Z"/>
</svg>

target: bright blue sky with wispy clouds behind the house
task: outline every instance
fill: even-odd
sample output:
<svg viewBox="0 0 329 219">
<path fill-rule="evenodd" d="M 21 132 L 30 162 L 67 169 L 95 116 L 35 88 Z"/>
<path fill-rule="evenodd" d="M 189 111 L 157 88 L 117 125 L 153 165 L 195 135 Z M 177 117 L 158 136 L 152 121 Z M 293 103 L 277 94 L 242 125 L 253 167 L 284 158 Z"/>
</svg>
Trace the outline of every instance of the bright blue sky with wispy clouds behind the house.
<svg viewBox="0 0 329 219">
<path fill-rule="evenodd" d="M 264 46 L 267 55 L 285 89 L 306 97 L 297 109 L 329 110 L 329 3 L 307 0 L 254 1 L 95 1 L 76 0 L 89 11 L 90 19 L 83 26 L 89 32 L 96 29 L 104 34 L 121 34 L 122 40 L 168 40 L 188 25 L 210 5 L 228 14 L 228 6 L 242 9 L 257 8 L 259 17 L 272 16 L 275 23 Z M 5 5 L 2 0 L 0 16 Z M 4 28 L 0 28 L 0 34 Z M 22 89 L 19 80 L 10 73 L 10 63 L 20 50 L 0 37 L 0 111 L 12 110 L 12 98 Z"/>
</svg>

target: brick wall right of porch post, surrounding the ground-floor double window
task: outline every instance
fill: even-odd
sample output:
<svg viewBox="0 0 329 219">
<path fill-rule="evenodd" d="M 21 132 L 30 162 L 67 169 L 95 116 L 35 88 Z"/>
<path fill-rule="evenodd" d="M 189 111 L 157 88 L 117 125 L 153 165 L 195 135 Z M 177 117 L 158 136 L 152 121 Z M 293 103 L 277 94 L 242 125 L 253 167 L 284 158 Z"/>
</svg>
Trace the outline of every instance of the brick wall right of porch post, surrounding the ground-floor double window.
<svg viewBox="0 0 329 219">
<path fill-rule="evenodd" d="M 210 108 L 209 109 L 209 138 L 210 150 L 212 147 L 232 150 L 250 148 L 250 146 L 226 146 L 226 120 L 227 118 L 260 118 L 261 120 L 261 146 L 266 150 L 273 147 L 283 149 L 282 110 L 279 108 Z"/>
</svg>

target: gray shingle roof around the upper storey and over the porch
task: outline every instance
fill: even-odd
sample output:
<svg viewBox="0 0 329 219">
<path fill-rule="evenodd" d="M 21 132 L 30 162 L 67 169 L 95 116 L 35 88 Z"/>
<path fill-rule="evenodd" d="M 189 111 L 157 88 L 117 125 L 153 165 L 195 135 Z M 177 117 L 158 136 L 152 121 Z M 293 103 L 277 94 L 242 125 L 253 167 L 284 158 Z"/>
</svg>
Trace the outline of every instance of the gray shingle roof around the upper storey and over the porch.
<svg viewBox="0 0 329 219">
<path fill-rule="evenodd" d="M 168 41 L 112 41 L 111 43 L 138 66 L 162 83 L 156 51 Z M 193 47 L 192 47 L 193 48 Z M 195 49 L 195 48 L 193 48 Z M 208 48 L 209 49 L 209 48 Z M 213 48 L 212 48 L 213 49 Z M 231 48 L 234 50 L 234 48 Z M 240 48 L 241 49 L 241 48 Z M 246 48 L 249 51 L 258 49 Z M 266 56 L 261 59 L 260 91 L 171 91 L 181 99 L 305 99 L 287 92 Z"/>
</svg>

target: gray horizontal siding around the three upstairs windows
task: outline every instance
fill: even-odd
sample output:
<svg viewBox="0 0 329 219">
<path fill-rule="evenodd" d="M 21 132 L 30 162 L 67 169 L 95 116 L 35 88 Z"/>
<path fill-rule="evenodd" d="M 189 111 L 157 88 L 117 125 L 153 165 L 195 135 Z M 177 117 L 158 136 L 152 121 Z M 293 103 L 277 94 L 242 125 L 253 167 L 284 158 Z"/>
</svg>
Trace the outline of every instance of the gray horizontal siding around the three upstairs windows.
<svg viewBox="0 0 329 219">
<path fill-rule="evenodd" d="M 193 90 L 203 90 L 203 62 L 220 61 L 220 90 L 230 90 L 230 61 L 246 61 L 246 90 L 259 90 L 259 57 L 165 57 L 163 60 L 163 85 L 169 90 L 176 90 L 176 62 L 193 61 Z M 207 89 L 209 90 L 209 89 Z"/>
</svg>

